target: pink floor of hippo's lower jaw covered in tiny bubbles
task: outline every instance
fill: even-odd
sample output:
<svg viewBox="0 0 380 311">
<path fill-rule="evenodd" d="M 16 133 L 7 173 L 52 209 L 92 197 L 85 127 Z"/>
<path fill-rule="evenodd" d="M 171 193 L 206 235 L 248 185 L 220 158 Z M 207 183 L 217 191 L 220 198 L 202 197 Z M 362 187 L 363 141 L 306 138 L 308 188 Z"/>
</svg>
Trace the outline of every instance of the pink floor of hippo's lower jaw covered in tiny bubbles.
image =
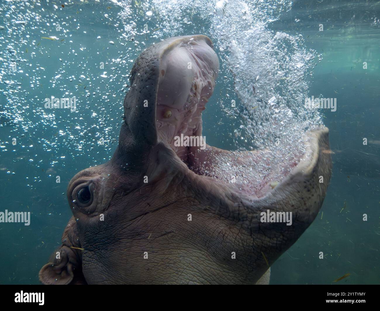
<svg viewBox="0 0 380 311">
<path fill-rule="evenodd" d="M 196 174 L 230 184 L 253 198 L 265 196 L 298 166 L 303 152 L 274 156 L 271 150 L 235 152 L 207 147 L 191 150 L 189 168 Z M 276 160 L 277 159 L 277 160 Z M 283 159 L 280 163 L 278 159 Z"/>
</svg>

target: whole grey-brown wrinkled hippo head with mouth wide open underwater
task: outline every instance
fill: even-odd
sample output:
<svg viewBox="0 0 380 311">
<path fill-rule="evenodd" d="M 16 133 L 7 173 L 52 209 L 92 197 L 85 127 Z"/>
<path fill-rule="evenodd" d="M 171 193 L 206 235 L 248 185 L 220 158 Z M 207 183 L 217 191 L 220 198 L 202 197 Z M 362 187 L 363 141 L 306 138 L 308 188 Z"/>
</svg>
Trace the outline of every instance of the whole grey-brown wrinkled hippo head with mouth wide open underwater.
<svg viewBox="0 0 380 311">
<path fill-rule="evenodd" d="M 201 112 L 218 67 L 203 35 L 170 38 L 141 53 L 124 99 L 119 145 L 108 163 L 71 179 L 73 217 L 62 246 L 41 268 L 42 283 L 269 283 L 270 265 L 322 205 L 331 176 L 328 129 L 306 133 L 306 153 L 289 161 L 275 186 L 270 173 L 260 185 L 226 182 L 220 159 L 246 169 L 269 161 L 265 151 L 174 144 L 181 134 L 202 135 Z M 267 210 L 292 212 L 291 226 L 261 222 Z"/>
</svg>

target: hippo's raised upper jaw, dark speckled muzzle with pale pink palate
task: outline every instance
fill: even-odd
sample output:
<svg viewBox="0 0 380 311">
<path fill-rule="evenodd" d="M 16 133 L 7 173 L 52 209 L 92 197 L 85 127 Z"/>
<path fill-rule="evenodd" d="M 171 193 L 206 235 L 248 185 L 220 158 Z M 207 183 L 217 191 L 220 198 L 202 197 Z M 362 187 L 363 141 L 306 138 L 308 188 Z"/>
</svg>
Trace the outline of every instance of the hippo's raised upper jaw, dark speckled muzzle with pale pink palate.
<svg viewBox="0 0 380 311">
<path fill-rule="evenodd" d="M 218 68 L 212 42 L 204 35 L 170 38 L 142 52 L 124 99 L 128 133 L 125 138 L 120 133 L 119 145 L 133 145 L 141 152 L 165 141 L 186 160 L 187 148 L 177 146 L 176 137 L 201 136 L 201 112 L 214 90 Z M 124 139 L 133 142 L 125 144 Z"/>
</svg>

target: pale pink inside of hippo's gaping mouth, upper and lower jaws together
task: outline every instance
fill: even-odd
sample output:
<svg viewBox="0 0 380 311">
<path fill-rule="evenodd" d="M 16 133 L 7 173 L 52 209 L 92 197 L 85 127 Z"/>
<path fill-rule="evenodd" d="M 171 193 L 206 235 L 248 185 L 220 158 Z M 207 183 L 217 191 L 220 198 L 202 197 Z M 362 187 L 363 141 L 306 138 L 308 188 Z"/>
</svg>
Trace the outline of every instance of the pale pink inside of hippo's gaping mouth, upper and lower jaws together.
<svg viewBox="0 0 380 311">
<path fill-rule="evenodd" d="M 164 42 L 165 47 L 159 55 L 155 100 L 158 141 L 168 142 L 190 170 L 219 182 L 236 183 L 231 187 L 257 198 L 277 186 L 291 171 L 296 172 L 294 169 L 300 162 L 303 163 L 301 170 L 310 165 L 311 159 L 315 158 L 312 145 L 317 144 L 310 134 L 305 137 L 305 144 L 309 146 L 306 153 L 284 159 L 287 166 L 282 172 L 271 170 L 269 150 L 239 153 L 206 145 L 201 113 L 212 95 L 219 69 L 212 42 L 203 35 L 177 37 Z M 327 133 L 326 128 L 315 131 L 317 136 Z M 183 137 L 187 141 L 183 142 Z M 180 139 L 181 144 L 176 144 Z M 260 181 L 254 180 L 257 173 L 252 168 L 265 161 L 265 174 Z M 244 169 L 247 167 L 249 169 Z"/>
</svg>

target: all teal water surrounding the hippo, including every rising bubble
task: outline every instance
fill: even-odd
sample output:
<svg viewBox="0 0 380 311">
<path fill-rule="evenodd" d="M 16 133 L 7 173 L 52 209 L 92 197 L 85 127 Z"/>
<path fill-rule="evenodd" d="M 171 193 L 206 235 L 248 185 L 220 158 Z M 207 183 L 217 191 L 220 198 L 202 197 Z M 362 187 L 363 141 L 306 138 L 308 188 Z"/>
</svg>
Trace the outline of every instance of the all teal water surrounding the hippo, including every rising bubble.
<svg viewBox="0 0 380 311">
<path fill-rule="evenodd" d="M 28 226 L 0 223 L 1 284 L 39 283 L 72 216 L 68 182 L 117 146 L 136 57 L 192 34 L 209 36 L 220 61 L 207 144 L 267 149 L 280 182 L 305 152 L 304 133 L 329 128 L 325 201 L 271 266 L 270 284 L 380 283 L 379 2 L 1 0 L 0 14 L 0 212 L 30 212 Z M 51 96 L 76 107 L 46 109 Z M 312 96 L 336 109 L 306 107 Z M 267 164 L 242 182 L 259 183 Z"/>
</svg>

